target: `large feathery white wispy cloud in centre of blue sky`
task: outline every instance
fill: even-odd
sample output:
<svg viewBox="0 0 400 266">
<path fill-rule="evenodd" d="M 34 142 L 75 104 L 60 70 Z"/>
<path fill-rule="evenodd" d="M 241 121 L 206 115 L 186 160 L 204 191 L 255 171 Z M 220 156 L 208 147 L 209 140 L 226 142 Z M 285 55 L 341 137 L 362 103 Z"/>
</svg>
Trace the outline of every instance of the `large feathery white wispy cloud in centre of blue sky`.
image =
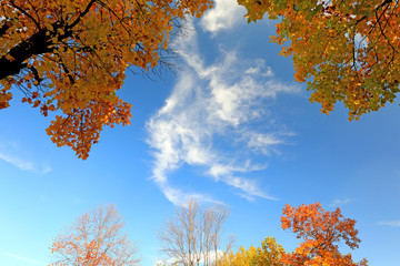
<svg viewBox="0 0 400 266">
<path fill-rule="evenodd" d="M 277 151 L 291 134 L 273 130 L 266 106 L 278 94 L 298 93 L 299 88 L 274 80 L 263 60 L 243 63 L 236 51 L 221 50 L 221 60 L 207 65 L 196 32 L 181 40 L 177 50 L 188 69 L 178 74 L 166 104 L 147 123 L 147 142 L 154 156 L 152 180 L 178 205 L 189 197 L 214 201 L 170 184 L 169 174 L 183 164 L 200 166 L 204 176 L 233 187 L 249 201 L 274 200 L 247 175 L 267 167 L 253 163 L 254 156 Z M 264 130 L 256 130 L 253 123 Z"/>
</svg>

